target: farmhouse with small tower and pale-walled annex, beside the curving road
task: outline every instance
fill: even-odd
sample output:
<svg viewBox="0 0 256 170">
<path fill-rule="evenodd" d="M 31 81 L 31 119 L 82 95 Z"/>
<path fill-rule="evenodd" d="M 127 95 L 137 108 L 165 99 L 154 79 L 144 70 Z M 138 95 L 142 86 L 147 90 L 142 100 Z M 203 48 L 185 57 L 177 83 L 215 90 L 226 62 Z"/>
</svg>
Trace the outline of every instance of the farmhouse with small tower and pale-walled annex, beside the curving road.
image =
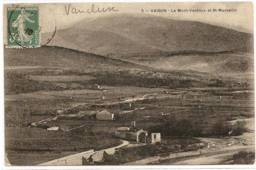
<svg viewBox="0 0 256 170">
<path fill-rule="evenodd" d="M 116 129 L 116 136 L 121 139 L 143 142 L 156 143 L 161 142 L 161 133 L 148 133 L 141 128 L 135 127 L 135 121 L 132 122 L 131 127 L 119 127 Z"/>
</svg>

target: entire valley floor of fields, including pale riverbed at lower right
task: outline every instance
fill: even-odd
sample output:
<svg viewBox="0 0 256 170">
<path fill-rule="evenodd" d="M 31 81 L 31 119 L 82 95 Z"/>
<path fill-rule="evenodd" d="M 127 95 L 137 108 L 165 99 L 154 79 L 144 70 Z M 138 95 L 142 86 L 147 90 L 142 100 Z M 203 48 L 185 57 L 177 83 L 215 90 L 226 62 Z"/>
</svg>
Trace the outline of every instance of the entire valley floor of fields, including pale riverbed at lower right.
<svg viewBox="0 0 256 170">
<path fill-rule="evenodd" d="M 89 84 L 95 75 L 79 77 L 77 73 L 74 74 L 69 70 L 71 73 L 68 75 L 62 73 L 61 76 L 51 77 L 51 75 L 39 76 L 35 73 L 33 77 L 31 74 L 34 71 L 29 71 L 28 75 L 31 78 L 24 76 L 26 74 L 23 75 L 23 79 L 26 79 L 25 82 L 21 81 L 23 84 L 17 85 L 14 82 L 11 87 L 26 91 L 23 86 L 36 81 L 35 85 L 31 84 L 31 86 L 38 87 L 39 90 L 33 89 L 38 91 L 21 93 L 17 90 L 5 95 L 5 151 L 12 165 L 37 165 L 90 149 L 102 150 L 114 147 L 120 144 L 119 139 L 114 136 L 115 130 L 121 126 L 131 126 L 131 121 L 134 120 L 139 128 L 161 132 L 163 145 L 150 145 L 149 147 L 153 149 L 151 153 L 138 155 L 135 148 L 142 148 L 145 151 L 148 145 L 130 143 L 128 147 L 133 148 L 130 151 L 134 156 L 129 157 L 126 154 L 127 161 L 154 156 L 155 151 L 161 153 L 184 151 L 184 145 L 195 144 L 197 140 L 205 140 L 205 143 L 210 144 L 209 148 L 201 149 L 200 156 L 164 160 L 157 164 L 225 164 L 233 153 L 254 148 L 254 91 L 250 85 L 156 88 L 103 84 L 100 90 L 93 90 Z M 206 77 L 209 79 L 210 76 Z M 79 78 L 82 78 L 82 82 L 73 82 L 78 81 Z M 104 76 L 102 79 L 105 79 Z M 189 82 L 191 79 L 193 78 L 189 77 L 182 81 Z M 159 79 L 150 80 L 154 84 L 158 83 Z M 197 84 L 201 84 L 198 82 Z M 51 88 L 42 90 L 41 87 L 45 87 L 43 86 L 45 84 L 39 86 L 40 83 L 54 84 L 54 87 L 58 88 L 54 90 L 50 86 Z M 103 109 L 113 113 L 115 120 L 98 120 L 95 115 L 86 118 L 77 116 L 79 111 Z M 60 118 L 60 115 L 66 117 Z M 45 120 L 46 118 L 50 119 Z M 191 123 L 193 129 L 202 129 L 198 132 L 204 137 L 193 139 L 192 137 L 195 136 L 189 136 L 188 139 L 177 137 L 178 134 L 174 134 L 173 129 L 179 130 L 175 127 L 182 120 Z M 246 128 L 249 132 L 242 136 L 210 138 L 209 134 L 214 132 L 216 124 L 232 125 L 238 120 L 248 125 Z M 47 128 L 54 126 L 59 127 L 59 130 L 47 131 Z M 170 132 L 166 132 L 165 129 L 169 129 Z M 177 150 L 174 150 L 174 145 L 176 147 L 178 145 Z"/>
</svg>

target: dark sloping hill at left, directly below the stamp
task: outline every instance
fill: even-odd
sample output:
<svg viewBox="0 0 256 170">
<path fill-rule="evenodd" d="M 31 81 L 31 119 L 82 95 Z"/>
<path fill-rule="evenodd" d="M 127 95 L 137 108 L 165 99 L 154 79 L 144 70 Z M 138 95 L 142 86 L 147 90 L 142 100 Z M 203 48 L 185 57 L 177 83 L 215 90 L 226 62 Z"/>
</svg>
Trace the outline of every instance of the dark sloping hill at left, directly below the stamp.
<svg viewBox="0 0 256 170">
<path fill-rule="evenodd" d="M 23 49 L 4 48 L 4 63 L 5 66 L 60 68 L 145 68 L 138 64 L 57 46 Z"/>
</svg>

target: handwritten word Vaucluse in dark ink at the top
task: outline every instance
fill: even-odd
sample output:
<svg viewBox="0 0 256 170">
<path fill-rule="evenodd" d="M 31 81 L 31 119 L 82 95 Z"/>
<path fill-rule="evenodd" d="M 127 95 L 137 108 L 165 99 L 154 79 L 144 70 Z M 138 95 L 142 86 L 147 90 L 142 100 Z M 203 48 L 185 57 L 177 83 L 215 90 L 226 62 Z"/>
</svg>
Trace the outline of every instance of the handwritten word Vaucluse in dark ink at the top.
<svg viewBox="0 0 256 170">
<path fill-rule="evenodd" d="M 92 6 L 89 9 L 83 11 L 81 9 L 76 9 L 76 7 L 73 7 L 70 4 L 65 5 L 65 12 L 67 15 L 69 14 L 69 12 L 71 14 L 78 14 L 78 13 L 86 13 L 86 12 L 87 13 L 96 13 L 96 12 L 110 12 L 110 11 L 117 12 L 119 10 L 116 10 L 115 6 L 111 6 L 111 7 L 107 7 L 107 8 L 105 8 L 105 7 L 100 8 L 100 7 L 94 7 L 94 4 L 92 4 Z"/>
</svg>

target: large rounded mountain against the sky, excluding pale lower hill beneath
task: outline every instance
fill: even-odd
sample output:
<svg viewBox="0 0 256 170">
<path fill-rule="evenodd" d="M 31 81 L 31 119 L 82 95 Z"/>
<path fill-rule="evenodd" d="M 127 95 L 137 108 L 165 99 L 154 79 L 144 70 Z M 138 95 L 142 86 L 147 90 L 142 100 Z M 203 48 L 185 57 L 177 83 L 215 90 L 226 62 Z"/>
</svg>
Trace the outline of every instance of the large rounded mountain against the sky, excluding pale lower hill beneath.
<svg viewBox="0 0 256 170">
<path fill-rule="evenodd" d="M 51 33 L 42 37 L 50 37 Z M 58 30 L 48 45 L 105 56 L 170 51 L 253 52 L 253 35 L 195 21 L 113 14 Z"/>
</svg>

